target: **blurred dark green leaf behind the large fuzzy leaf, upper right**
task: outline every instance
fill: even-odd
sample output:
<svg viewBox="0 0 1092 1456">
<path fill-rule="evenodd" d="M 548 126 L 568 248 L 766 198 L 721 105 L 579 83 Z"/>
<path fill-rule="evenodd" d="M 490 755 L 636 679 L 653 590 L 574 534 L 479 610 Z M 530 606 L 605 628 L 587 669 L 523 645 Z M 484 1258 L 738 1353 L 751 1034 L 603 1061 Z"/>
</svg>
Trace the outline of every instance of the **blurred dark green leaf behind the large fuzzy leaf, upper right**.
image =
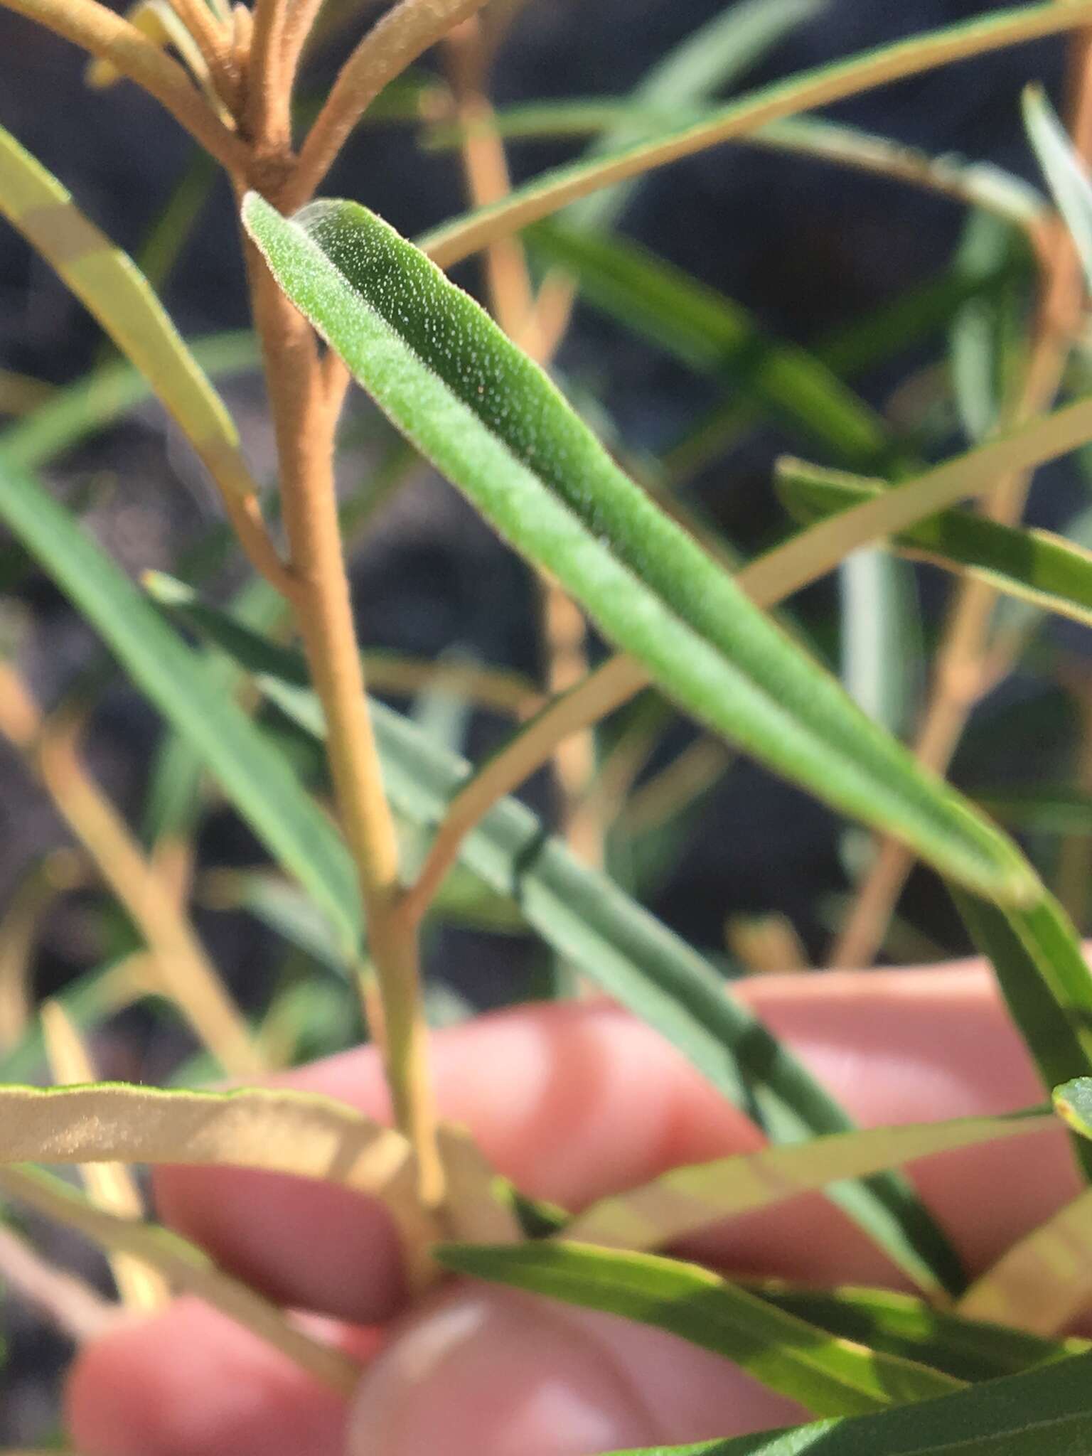
<svg viewBox="0 0 1092 1456">
<path fill-rule="evenodd" d="M 588 303 L 684 364 L 732 379 L 834 460 L 881 472 L 894 464 L 897 446 L 879 415 L 807 349 L 769 338 L 732 298 L 613 234 L 539 223 L 529 230 L 527 243 L 572 272 Z"/>
</svg>

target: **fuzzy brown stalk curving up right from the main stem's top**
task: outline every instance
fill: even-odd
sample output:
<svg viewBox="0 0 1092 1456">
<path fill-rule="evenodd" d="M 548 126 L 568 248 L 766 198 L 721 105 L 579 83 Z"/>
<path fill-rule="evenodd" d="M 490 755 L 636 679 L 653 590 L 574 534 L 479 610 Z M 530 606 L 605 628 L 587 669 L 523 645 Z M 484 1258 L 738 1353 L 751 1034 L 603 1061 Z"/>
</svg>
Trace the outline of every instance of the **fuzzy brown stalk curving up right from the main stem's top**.
<svg viewBox="0 0 1092 1456">
<path fill-rule="evenodd" d="M 329 172 L 347 137 L 383 87 L 485 0 L 400 0 L 368 31 L 338 79 L 300 149 L 278 205 L 301 207 Z"/>
</svg>

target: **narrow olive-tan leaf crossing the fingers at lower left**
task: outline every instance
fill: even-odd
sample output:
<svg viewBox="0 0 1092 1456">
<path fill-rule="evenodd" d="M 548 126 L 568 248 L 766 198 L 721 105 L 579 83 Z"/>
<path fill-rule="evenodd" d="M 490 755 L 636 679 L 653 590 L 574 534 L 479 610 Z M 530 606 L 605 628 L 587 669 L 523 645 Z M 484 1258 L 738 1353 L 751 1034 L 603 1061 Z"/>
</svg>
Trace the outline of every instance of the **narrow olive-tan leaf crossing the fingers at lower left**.
<svg viewBox="0 0 1092 1456">
<path fill-rule="evenodd" d="M 169 1229 L 96 1208 L 41 1168 L 0 1169 L 0 1194 L 67 1224 L 108 1254 L 140 1259 L 162 1274 L 172 1289 L 197 1294 L 342 1395 L 348 1396 L 357 1385 L 360 1366 L 352 1358 L 304 1334 L 277 1305 L 221 1273 L 202 1249 Z"/>
</svg>

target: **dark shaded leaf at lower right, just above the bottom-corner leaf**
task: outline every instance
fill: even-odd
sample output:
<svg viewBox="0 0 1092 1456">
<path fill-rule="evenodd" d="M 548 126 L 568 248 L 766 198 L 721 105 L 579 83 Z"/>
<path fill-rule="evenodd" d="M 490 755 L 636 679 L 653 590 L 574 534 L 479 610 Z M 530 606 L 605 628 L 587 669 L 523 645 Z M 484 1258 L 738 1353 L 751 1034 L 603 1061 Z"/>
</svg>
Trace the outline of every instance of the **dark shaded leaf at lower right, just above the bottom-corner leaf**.
<svg viewBox="0 0 1092 1456">
<path fill-rule="evenodd" d="M 756 1284 L 778 1309 L 871 1350 L 920 1360 L 958 1380 L 996 1380 L 1082 1354 L 1086 1340 L 1044 1340 L 1024 1329 L 964 1319 L 885 1289 L 812 1290 Z"/>
</svg>

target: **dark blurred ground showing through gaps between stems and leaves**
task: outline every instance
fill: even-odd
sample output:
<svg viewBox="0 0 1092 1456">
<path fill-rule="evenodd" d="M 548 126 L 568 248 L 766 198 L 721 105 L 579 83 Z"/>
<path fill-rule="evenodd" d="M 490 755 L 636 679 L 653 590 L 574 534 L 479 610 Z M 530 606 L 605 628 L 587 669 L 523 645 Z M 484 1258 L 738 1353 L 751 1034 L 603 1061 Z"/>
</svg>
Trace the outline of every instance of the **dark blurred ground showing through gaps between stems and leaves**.
<svg viewBox="0 0 1092 1456">
<path fill-rule="evenodd" d="M 820 19 L 802 26 L 753 73 L 747 83 L 788 74 L 977 15 L 981 0 L 828 0 Z M 565 95 L 620 95 L 668 47 L 721 9 L 718 0 L 530 0 L 496 70 L 499 100 Z M 333 47 L 312 68 L 320 90 L 333 71 Z M 1019 92 L 1029 79 L 1054 90 L 1061 42 L 1002 51 L 974 64 L 887 87 L 833 115 L 923 147 L 990 159 L 1032 173 L 1019 121 Z M 131 86 L 105 95 L 82 84 L 83 58 L 67 44 L 0 10 L 0 124 L 50 166 L 90 215 L 128 249 L 135 249 L 189 157 L 176 125 Z M 565 149 L 513 146 L 517 176 L 571 154 Z M 418 230 L 462 210 L 460 179 L 451 157 L 424 157 L 409 128 L 358 134 L 328 186 L 368 202 L 400 230 Z M 775 333 L 808 342 L 837 323 L 865 314 L 941 268 L 958 239 L 957 207 L 917 191 L 827 166 L 718 149 L 652 175 L 625 215 L 625 230 L 697 278 L 753 309 Z M 466 269 L 460 280 L 476 287 Z M 246 325 L 246 303 L 230 198 L 220 188 L 185 249 L 166 290 L 166 303 L 186 335 Z M 79 377 L 98 348 L 98 333 L 80 306 L 0 229 L 0 365 L 64 383 Z M 930 347 L 936 354 L 936 344 Z M 859 381 L 884 408 L 898 381 L 925 358 L 901 358 Z M 594 389 L 630 447 L 655 453 L 668 446 L 708 403 L 706 386 L 651 348 L 579 310 L 562 351 L 568 377 Z M 255 381 L 226 386 L 255 464 L 272 464 L 261 390 Z M 788 444 L 772 431 L 751 435 L 731 456 L 705 470 L 697 498 L 737 545 L 757 547 L 776 529 L 769 489 L 770 462 Z M 958 441 L 951 441 L 958 447 Z M 347 469 L 364 469 L 349 457 Z M 215 517 L 215 502 L 183 446 L 151 406 L 137 412 L 54 467 L 66 492 L 93 485 L 102 502 L 92 513 L 100 539 L 134 572 L 170 568 L 181 549 Z M 1079 488 L 1066 472 L 1048 476 L 1035 511 L 1056 520 L 1072 510 Z M 454 494 L 435 480 L 415 485 L 383 517 L 354 562 L 361 633 L 365 642 L 437 655 L 453 648 L 524 673 L 539 670 L 533 626 L 533 587 L 524 568 L 491 536 Z M 925 582 L 935 616 L 939 593 Z M 90 633 L 42 577 L 31 577 L 20 600 L 32 614 L 28 665 L 36 692 L 51 700 L 93 651 Z M 833 593 L 811 593 L 805 609 L 830 617 Z M 1079 649 L 1079 644 L 1075 644 Z M 1002 695 L 1018 703 L 1031 692 L 1019 678 Z M 1006 696 L 1008 695 L 1008 696 Z M 984 728 L 970 740 L 958 772 L 978 782 L 1028 772 L 1024 747 L 999 743 Z M 138 811 L 149 757 L 159 727 L 124 683 L 103 697 L 90 754 L 96 773 L 127 811 Z M 496 725 L 475 728 L 480 751 Z M 1037 747 L 1050 753 L 1041 728 Z M 1059 728 L 1061 732 L 1061 728 Z M 539 804 L 549 811 L 549 786 Z M 727 914 L 785 911 L 814 954 L 823 948 L 823 897 L 844 888 L 839 859 L 840 826 L 804 795 L 759 769 L 734 770 L 709 794 L 699 821 L 652 909 L 693 942 L 719 948 Z M 29 859 L 63 833 L 22 767 L 0 750 L 0 907 Z M 227 814 L 210 821 L 201 853 L 210 863 L 249 862 L 253 847 Z M 917 875 L 907 913 L 939 945 L 962 946 L 942 893 Z M 262 999 L 266 942 L 250 922 L 205 916 L 201 930 L 236 992 Z M 89 906 L 80 895 L 51 916 L 39 946 L 38 986 L 45 993 L 95 964 Z M 432 970 L 478 1005 L 507 1000 L 533 974 L 536 952 L 513 939 L 446 932 L 432 946 Z M 128 1024 L 127 1024 L 128 1026 Z M 141 1024 L 128 1026 L 140 1035 Z M 112 1042 L 102 1054 L 121 1069 L 134 1051 Z M 151 1056 L 151 1067 L 170 1048 Z M 147 1056 L 140 1063 L 147 1075 Z M 162 1073 L 160 1073 L 162 1075 Z M 55 1242 L 54 1242 L 55 1246 Z M 0 1408 L 7 1440 L 36 1440 L 48 1430 L 48 1383 L 57 1347 L 32 1334 L 29 1316 L 7 1305 L 9 1334 L 19 1360 L 9 1366 Z"/>
</svg>

